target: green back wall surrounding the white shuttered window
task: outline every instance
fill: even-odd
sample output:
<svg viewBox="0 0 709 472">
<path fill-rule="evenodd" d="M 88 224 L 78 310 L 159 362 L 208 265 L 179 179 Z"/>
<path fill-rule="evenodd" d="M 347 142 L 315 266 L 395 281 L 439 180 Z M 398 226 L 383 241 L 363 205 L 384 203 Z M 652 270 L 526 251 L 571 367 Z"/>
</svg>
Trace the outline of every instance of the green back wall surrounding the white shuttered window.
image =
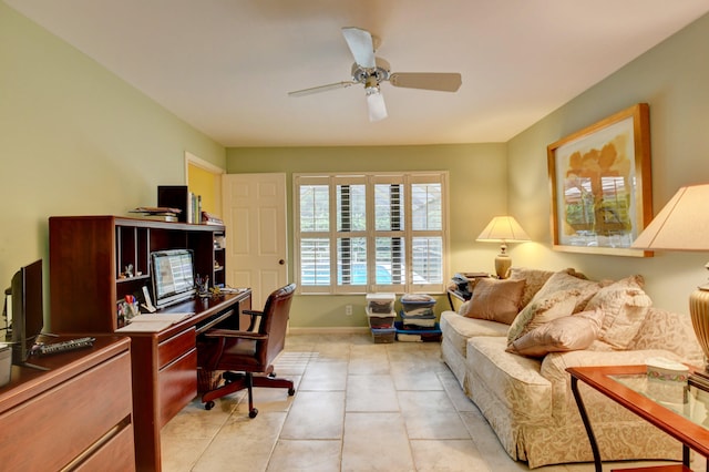
<svg viewBox="0 0 709 472">
<path fill-rule="evenodd" d="M 496 245 L 475 244 L 490 219 L 506 213 L 507 175 L 504 144 L 446 144 L 427 146 L 354 147 L 239 147 L 227 150 L 228 173 L 287 174 L 288 196 L 292 195 L 294 173 L 356 171 L 449 171 L 452 271 L 494 271 Z M 288 242 L 292 242 L 292 206 L 288 202 Z M 514 250 L 514 249 L 513 249 Z M 292 269 L 290 248 L 289 268 Z M 512 253 L 514 256 L 514 252 Z M 290 275 L 292 279 L 292 274 Z M 345 315 L 345 306 L 353 315 Z M 436 311 L 445 309 L 441 297 Z M 367 326 L 363 296 L 304 295 L 291 307 L 294 328 Z"/>
</svg>

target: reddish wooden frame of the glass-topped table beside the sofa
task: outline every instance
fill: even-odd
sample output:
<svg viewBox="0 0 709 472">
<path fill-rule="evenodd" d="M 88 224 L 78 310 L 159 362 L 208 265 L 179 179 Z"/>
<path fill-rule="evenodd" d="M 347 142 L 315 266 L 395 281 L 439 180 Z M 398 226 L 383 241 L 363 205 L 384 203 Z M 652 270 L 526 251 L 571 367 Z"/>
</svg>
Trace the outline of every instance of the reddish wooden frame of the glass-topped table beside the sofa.
<svg viewBox="0 0 709 472">
<path fill-rule="evenodd" d="M 572 376 L 572 391 L 576 399 L 584 425 L 586 427 L 586 432 L 588 433 L 596 472 L 602 472 L 603 470 L 600 453 L 592 424 L 588 421 L 584 401 L 578 391 L 579 380 L 682 443 L 682 464 L 628 469 L 627 471 L 689 472 L 689 449 L 693 449 L 705 458 L 709 458 L 709 429 L 699 424 L 691 417 L 681 414 L 679 411 L 674 411 L 667 406 L 654 401 L 650 398 L 651 394 L 649 397 L 648 394 L 643 394 L 641 388 L 630 388 L 620 380 L 624 377 L 628 379 L 635 377 L 641 380 L 647 371 L 646 366 L 571 367 L 566 370 Z M 684 387 L 684 384 L 678 382 L 677 388 L 679 389 L 680 398 L 682 397 L 681 389 Z M 688 393 L 688 401 L 689 397 L 691 397 L 691 392 Z M 709 400 L 703 401 L 709 403 Z"/>
</svg>

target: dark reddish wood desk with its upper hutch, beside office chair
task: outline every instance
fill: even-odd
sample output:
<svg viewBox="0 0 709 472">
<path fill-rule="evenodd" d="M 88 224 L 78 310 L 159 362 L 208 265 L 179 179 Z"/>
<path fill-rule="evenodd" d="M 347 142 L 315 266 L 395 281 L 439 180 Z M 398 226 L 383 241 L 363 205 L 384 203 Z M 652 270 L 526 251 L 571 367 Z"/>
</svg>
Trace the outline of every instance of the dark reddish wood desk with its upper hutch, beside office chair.
<svg viewBox="0 0 709 472">
<path fill-rule="evenodd" d="M 150 254 L 192 249 L 195 273 L 224 284 L 225 227 L 117 216 L 49 219 L 51 330 L 114 334 L 116 301 L 150 286 Z M 126 276 L 126 267 L 132 266 Z M 160 430 L 197 394 L 196 336 L 207 327 L 238 328 L 250 291 L 195 298 L 165 311 L 194 316 L 160 332 L 127 332 L 132 345 L 137 470 L 161 470 Z"/>
</svg>

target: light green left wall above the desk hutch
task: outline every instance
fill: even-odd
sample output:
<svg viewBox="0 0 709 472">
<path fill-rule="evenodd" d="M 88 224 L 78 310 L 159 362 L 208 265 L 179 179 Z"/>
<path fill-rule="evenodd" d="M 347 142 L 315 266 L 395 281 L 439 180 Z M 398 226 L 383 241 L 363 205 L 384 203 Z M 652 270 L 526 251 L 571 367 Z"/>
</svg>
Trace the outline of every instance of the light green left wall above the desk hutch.
<svg viewBox="0 0 709 472">
<path fill-rule="evenodd" d="M 47 278 L 50 215 L 155 205 L 157 185 L 185 183 L 186 151 L 226 165 L 222 145 L 4 2 L 0 70 L 2 288 L 38 258 Z"/>
</svg>

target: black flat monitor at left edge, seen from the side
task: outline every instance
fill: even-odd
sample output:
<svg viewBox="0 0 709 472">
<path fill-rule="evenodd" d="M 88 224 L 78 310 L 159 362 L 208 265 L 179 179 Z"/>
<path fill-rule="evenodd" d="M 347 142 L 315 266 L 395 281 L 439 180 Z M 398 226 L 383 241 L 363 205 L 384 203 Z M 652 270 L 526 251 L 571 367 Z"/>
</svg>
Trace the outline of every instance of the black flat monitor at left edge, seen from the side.
<svg viewBox="0 0 709 472">
<path fill-rule="evenodd" d="M 42 308 L 42 259 L 20 268 L 12 277 L 12 363 L 27 363 L 37 338 L 44 327 Z"/>
</svg>

